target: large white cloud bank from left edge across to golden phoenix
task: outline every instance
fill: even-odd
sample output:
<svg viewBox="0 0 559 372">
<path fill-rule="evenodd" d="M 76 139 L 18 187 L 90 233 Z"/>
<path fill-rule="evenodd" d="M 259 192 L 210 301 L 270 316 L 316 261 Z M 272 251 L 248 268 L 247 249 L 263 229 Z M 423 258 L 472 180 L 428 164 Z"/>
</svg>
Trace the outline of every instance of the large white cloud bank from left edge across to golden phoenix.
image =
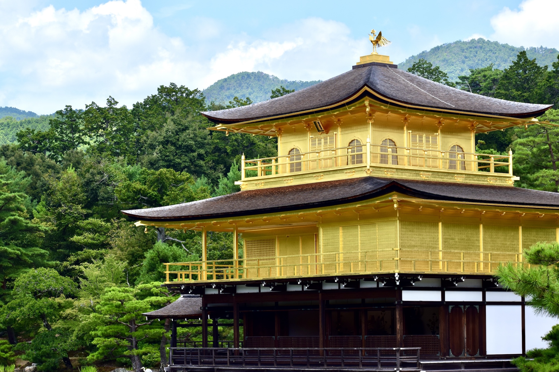
<svg viewBox="0 0 559 372">
<path fill-rule="evenodd" d="M 366 38 L 355 40 L 343 23 L 321 18 L 260 38 L 229 35 L 232 41 L 222 44 L 215 37 L 222 26 L 211 18 L 192 20 L 215 31 L 205 38 L 165 35 L 140 0 L 112 0 L 84 11 L 31 11 L 11 3 L 0 1 L 0 107 L 42 114 L 65 104 L 105 104 L 108 95 L 131 107 L 161 84 L 205 88 L 240 71 L 324 80 L 369 52 Z"/>
</svg>

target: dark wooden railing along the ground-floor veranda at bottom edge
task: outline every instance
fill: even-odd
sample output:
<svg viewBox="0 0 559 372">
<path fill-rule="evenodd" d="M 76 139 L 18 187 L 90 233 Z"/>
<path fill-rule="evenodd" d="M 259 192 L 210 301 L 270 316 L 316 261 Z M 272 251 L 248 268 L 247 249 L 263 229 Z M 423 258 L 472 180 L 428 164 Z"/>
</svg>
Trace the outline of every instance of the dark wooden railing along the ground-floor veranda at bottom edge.
<svg viewBox="0 0 559 372">
<path fill-rule="evenodd" d="M 420 347 L 215 348 L 170 347 L 170 370 L 216 367 L 419 370 Z"/>
</svg>

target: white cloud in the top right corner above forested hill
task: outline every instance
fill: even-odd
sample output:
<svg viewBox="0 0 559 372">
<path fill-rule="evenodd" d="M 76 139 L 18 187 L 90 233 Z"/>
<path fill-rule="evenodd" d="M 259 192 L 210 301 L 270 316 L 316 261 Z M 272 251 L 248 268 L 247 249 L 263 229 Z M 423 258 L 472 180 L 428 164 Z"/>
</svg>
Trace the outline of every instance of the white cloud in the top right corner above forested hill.
<svg viewBox="0 0 559 372">
<path fill-rule="evenodd" d="M 547 46 L 559 48 L 559 2 L 525 0 L 519 10 L 507 7 L 491 18 L 495 33 L 491 40 L 514 46 Z"/>
</svg>

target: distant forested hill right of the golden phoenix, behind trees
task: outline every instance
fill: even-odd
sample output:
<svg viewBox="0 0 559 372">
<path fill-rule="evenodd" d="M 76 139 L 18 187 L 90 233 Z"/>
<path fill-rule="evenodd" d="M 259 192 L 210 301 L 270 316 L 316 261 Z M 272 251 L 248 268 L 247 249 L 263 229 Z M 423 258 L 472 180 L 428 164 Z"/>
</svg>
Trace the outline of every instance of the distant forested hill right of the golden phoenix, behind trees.
<svg viewBox="0 0 559 372">
<path fill-rule="evenodd" d="M 469 41 L 455 41 L 435 46 L 429 51 L 421 52 L 398 64 L 398 68 L 408 70 L 419 59 L 427 60 L 448 74 L 449 80 L 458 79 L 459 75 L 467 75 L 470 69 L 493 64 L 496 69 L 503 70 L 514 61 L 523 51 L 523 47 L 500 44 L 498 41 L 489 41 L 483 38 Z M 538 65 L 551 64 L 557 60 L 559 52 L 554 48 L 529 47 L 526 54 L 529 59 L 536 59 Z"/>
</svg>

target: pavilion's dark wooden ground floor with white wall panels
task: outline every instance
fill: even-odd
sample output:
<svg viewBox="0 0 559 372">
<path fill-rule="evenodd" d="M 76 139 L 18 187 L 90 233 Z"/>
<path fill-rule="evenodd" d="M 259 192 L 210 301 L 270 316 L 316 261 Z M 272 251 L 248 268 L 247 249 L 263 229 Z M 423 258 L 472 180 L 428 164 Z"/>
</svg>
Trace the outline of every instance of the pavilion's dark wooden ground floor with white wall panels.
<svg viewBox="0 0 559 372">
<path fill-rule="evenodd" d="M 211 368 L 508 370 L 511 357 L 546 347 L 540 337 L 556 323 L 489 276 L 400 274 L 181 290 L 178 302 L 197 301 L 200 310 L 170 316 L 173 363 L 192 370 L 204 360 Z M 177 328 L 192 326 L 184 320 L 195 317 L 198 344 L 177 337 Z M 233 327 L 233 339 L 219 340 L 217 325 Z"/>
</svg>

